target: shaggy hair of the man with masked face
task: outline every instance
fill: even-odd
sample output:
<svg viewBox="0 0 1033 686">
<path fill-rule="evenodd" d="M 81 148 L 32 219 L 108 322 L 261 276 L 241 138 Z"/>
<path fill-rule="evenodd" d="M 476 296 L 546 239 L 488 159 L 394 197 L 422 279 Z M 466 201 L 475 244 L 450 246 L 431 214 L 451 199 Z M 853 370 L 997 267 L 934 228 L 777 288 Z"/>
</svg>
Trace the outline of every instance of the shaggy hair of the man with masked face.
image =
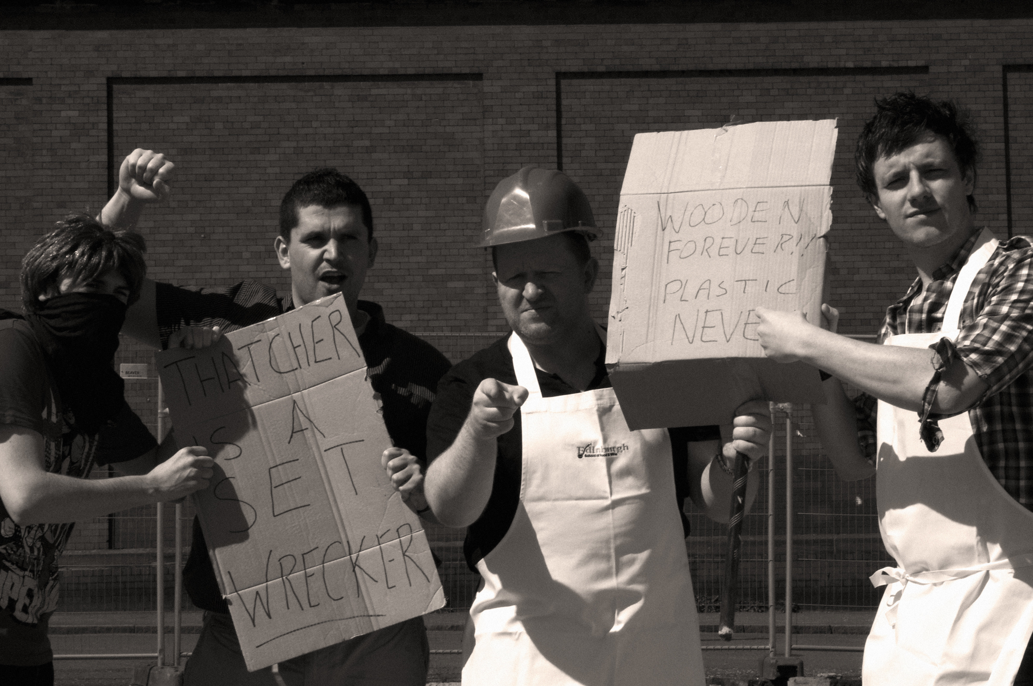
<svg viewBox="0 0 1033 686">
<path fill-rule="evenodd" d="M 147 276 L 147 243 L 135 231 L 111 229 L 88 214 L 70 214 L 36 241 L 22 258 L 22 306 L 40 307 L 39 297 L 62 279 L 88 283 L 118 270 L 129 286 L 129 304 L 139 299 Z"/>
</svg>

